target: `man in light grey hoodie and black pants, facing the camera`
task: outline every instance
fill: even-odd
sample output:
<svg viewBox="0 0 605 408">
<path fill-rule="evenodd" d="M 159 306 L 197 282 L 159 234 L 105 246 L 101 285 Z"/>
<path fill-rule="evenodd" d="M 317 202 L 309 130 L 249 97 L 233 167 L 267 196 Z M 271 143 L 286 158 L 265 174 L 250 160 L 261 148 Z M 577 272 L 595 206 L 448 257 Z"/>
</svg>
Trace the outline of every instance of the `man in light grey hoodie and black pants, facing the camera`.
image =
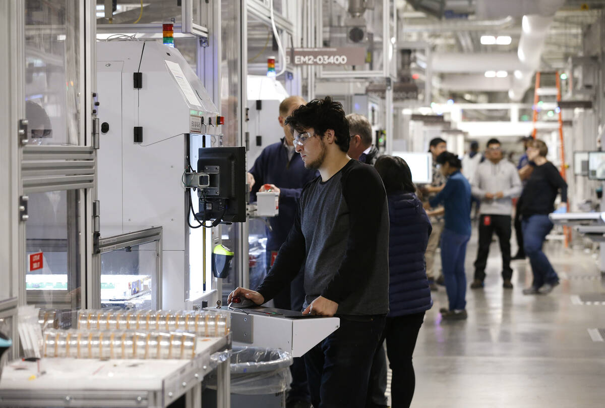
<svg viewBox="0 0 605 408">
<path fill-rule="evenodd" d="M 485 151 L 486 161 L 477 166 L 471 184 L 473 196 L 481 200 L 479 219 L 479 248 L 475 261 L 475 276 L 471 289 L 483 287 L 485 266 L 489 254 L 492 234 L 500 241 L 502 252 L 503 287 L 512 289 L 511 277 L 511 213 L 512 198 L 522 191 L 517 167 L 502 159 L 502 148 L 498 139 L 489 139 Z"/>
</svg>

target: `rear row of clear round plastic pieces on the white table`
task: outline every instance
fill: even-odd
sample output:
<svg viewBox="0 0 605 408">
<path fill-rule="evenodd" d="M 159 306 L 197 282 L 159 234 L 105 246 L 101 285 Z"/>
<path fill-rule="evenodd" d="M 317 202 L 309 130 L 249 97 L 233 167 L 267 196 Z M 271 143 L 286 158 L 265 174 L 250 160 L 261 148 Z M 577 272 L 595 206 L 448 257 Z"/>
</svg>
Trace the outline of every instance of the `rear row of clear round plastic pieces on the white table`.
<svg viewBox="0 0 605 408">
<path fill-rule="evenodd" d="M 78 329 L 157 330 L 222 337 L 231 330 L 231 315 L 221 310 L 80 310 Z"/>
</svg>

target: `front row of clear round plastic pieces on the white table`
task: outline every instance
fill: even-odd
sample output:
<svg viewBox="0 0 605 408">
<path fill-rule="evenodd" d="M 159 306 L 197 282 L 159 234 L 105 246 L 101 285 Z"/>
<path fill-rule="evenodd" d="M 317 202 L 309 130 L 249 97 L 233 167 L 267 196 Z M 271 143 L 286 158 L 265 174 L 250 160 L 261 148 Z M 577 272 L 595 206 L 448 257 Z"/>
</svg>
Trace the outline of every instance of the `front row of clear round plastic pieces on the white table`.
<svg viewBox="0 0 605 408">
<path fill-rule="evenodd" d="M 196 335 L 186 332 L 47 329 L 44 332 L 42 355 L 101 359 L 190 359 L 195 356 L 196 346 Z"/>
</svg>

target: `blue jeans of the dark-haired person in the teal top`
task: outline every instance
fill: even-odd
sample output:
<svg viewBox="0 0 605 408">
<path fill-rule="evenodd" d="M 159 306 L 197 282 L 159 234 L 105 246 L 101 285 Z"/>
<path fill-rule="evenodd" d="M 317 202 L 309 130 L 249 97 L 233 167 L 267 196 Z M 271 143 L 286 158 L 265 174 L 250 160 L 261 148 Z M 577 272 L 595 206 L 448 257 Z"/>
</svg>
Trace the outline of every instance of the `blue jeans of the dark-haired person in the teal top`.
<svg viewBox="0 0 605 408">
<path fill-rule="evenodd" d="M 450 310 L 464 310 L 466 307 L 464 260 L 466 244 L 470 238 L 469 235 L 460 235 L 446 229 L 441 234 L 441 267 Z"/>
</svg>

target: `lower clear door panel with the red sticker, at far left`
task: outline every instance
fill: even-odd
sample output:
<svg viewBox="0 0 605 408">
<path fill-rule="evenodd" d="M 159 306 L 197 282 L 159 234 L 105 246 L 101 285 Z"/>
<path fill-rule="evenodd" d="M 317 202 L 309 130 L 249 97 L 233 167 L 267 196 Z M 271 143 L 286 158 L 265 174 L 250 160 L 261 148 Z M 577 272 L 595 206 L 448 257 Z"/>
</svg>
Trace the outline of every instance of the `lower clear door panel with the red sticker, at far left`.
<svg viewBox="0 0 605 408">
<path fill-rule="evenodd" d="M 29 195 L 29 219 L 25 223 L 28 304 L 60 312 L 80 308 L 78 193 L 69 190 Z"/>
</svg>

